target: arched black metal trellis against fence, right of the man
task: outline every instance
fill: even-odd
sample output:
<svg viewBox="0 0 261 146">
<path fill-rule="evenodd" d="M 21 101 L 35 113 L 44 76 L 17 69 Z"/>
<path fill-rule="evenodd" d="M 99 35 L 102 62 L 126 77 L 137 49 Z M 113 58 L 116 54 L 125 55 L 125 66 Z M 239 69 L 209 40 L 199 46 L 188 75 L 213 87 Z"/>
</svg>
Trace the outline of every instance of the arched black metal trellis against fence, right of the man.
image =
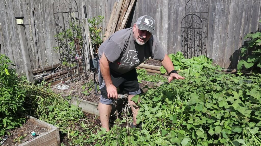
<svg viewBox="0 0 261 146">
<path fill-rule="evenodd" d="M 209 6 L 206 0 L 189 0 L 181 21 L 181 52 L 186 58 L 207 54 Z"/>
</svg>

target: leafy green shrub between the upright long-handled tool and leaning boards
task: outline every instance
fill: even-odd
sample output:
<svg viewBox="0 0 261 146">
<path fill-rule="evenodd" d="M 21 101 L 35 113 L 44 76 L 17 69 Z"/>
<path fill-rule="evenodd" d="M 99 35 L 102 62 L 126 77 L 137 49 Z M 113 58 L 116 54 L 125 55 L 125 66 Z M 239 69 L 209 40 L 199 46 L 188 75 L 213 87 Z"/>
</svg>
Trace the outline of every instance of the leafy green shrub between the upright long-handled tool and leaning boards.
<svg viewBox="0 0 261 146">
<path fill-rule="evenodd" d="M 93 17 L 91 19 L 88 19 L 88 22 L 90 24 L 89 30 L 92 40 L 92 48 L 94 53 L 98 53 L 98 48 L 102 44 L 103 40 L 101 37 L 102 33 L 102 27 L 97 28 L 100 23 L 104 21 L 104 16 L 98 15 L 96 17 Z"/>
</svg>

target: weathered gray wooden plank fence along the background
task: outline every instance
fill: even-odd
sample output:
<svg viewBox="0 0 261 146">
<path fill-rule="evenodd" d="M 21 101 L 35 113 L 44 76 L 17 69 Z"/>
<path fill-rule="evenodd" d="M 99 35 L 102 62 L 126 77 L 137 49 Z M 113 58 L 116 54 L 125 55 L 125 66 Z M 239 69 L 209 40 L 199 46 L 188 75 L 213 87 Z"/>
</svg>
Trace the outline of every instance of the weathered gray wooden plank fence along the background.
<svg viewBox="0 0 261 146">
<path fill-rule="evenodd" d="M 86 5 L 89 18 L 105 16 L 105 22 L 101 25 L 104 33 L 114 2 L 117 1 L 76 0 L 80 19 L 84 18 L 83 5 Z M 164 51 L 168 54 L 180 51 L 181 21 L 185 16 L 186 2 L 188 0 L 137 0 L 131 25 L 142 15 L 152 16 L 157 24 L 155 34 Z M 207 57 L 213 58 L 214 62 L 222 67 L 236 68 L 240 47 L 245 43 L 244 36 L 260 30 L 261 25 L 258 21 L 261 19 L 261 0 L 206 0 L 206 2 L 209 6 Z M 21 55 L 15 17 L 24 16 L 25 24 L 48 24 L 39 26 L 36 30 L 35 27 L 28 27 L 28 32 L 31 33 L 55 30 L 52 4 L 53 0 L 0 0 L 0 53 L 11 58 L 18 72 L 24 71 L 23 59 L 26 58 Z M 43 43 L 44 48 L 56 47 L 55 40 L 51 40 L 53 35 L 51 33 L 45 36 L 38 35 L 38 40 L 44 40 L 40 37 L 48 37 L 50 44 Z M 54 55 L 55 51 L 40 53 L 41 57 L 47 57 L 50 53 Z"/>
</svg>

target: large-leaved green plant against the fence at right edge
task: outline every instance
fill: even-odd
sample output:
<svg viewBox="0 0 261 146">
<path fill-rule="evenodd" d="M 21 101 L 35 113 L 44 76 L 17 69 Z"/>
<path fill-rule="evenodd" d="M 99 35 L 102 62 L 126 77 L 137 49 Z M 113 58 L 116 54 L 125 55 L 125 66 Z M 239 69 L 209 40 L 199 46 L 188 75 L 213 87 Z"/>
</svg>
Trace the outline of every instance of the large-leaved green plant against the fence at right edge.
<svg viewBox="0 0 261 146">
<path fill-rule="evenodd" d="M 240 56 L 244 57 L 247 54 L 248 56 L 238 62 L 238 69 L 254 67 L 258 70 L 261 68 L 261 32 L 247 34 L 244 39 L 249 39 L 249 41 L 246 46 L 240 49 Z"/>
</svg>

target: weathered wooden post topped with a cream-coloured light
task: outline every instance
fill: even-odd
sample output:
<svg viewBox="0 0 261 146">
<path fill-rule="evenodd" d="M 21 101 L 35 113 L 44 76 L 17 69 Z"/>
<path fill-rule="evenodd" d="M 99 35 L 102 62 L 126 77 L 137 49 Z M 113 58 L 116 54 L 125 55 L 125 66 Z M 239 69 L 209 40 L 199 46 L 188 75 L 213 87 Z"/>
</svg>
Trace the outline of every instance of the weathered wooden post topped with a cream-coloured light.
<svg viewBox="0 0 261 146">
<path fill-rule="evenodd" d="M 23 63 L 25 67 L 27 81 L 34 83 L 33 70 L 31 66 L 31 60 L 29 57 L 29 50 L 28 50 L 26 34 L 25 34 L 25 26 L 23 25 L 23 22 L 21 22 L 24 17 L 15 17 L 15 18 L 17 20 L 17 25 L 18 25 L 17 30 L 18 30 L 18 36 L 20 41 L 19 43 L 22 50 Z"/>
</svg>

